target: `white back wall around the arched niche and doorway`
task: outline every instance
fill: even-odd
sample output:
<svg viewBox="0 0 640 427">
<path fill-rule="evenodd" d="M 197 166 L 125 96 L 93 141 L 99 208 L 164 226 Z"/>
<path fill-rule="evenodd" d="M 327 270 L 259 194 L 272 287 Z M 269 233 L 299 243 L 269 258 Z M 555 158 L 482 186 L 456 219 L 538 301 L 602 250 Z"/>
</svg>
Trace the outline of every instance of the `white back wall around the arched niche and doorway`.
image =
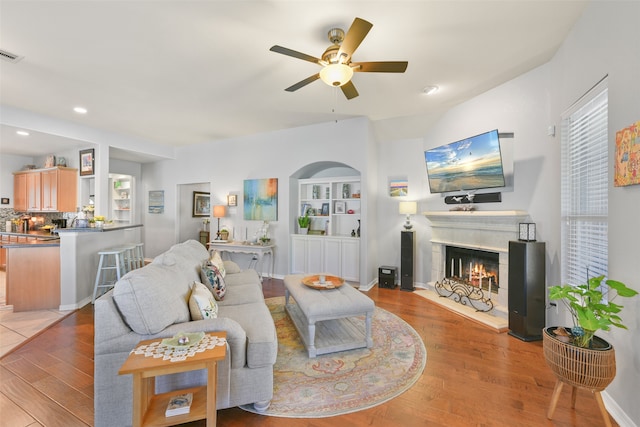
<svg viewBox="0 0 640 427">
<path fill-rule="evenodd" d="M 373 154 L 372 154 L 373 153 Z M 371 141 L 369 123 L 364 118 L 183 147 L 176 150 L 175 160 L 143 165 L 143 192 L 165 191 L 164 214 L 143 212 L 145 249 L 155 256 L 176 243 L 174 232 L 178 216 L 177 186 L 190 183 L 211 183 L 211 204 L 226 204 L 229 193 L 238 195 L 238 207 L 228 211 L 224 223 L 235 229 L 236 238 L 249 237 L 260 227 L 260 221 L 243 219 L 242 191 L 245 179 L 278 178 L 278 220 L 270 223 L 270 233 L 276 246 L 275 272 L 289 271 L 289 234 L 294 230 L 295 217 L 290 214 L 289 177 L 300 168 L 316 162 L 340 162 L 361 171 L 363 182 L 376 182 L 375 144 Z M 373 166 L 371 166 L 373 164 Z M 363 192 L 363 203 L 372 203 L 376 194 Z M 373 209 L 370 209 L 373 210 Z M 374 216 L 375 218 L 375 216 Z M 361 253 L 372 251 L 367 245 L 369 230 L 375 228 L 363 217 Z M 373 237 L 371 237 L 373 238 Z M 373 258 L 373 261 L 371 261 Z M 363 282 L 373 279 L 374 267 L 368 264 L 375 256 L 365 256 Z"/>
</svg>

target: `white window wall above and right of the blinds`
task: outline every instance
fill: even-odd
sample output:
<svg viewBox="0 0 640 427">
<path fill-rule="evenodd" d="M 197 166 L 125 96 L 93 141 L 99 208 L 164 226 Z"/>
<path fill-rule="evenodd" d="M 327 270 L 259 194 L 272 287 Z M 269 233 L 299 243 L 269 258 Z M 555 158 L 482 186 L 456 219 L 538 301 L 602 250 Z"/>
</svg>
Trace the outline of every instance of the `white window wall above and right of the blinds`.
<svg viewBox="0 0 640 427">
<path fill-rule="evenodd" d="M 552 65 L 552 115 L 558 117 L 603 76 L 609 75 L 609 166 L 613 177 L 615 132 L 640 120 L 640 2 L 592 2 Z M 640 291 L 640 185 L 609 182 L 609 277 Z M 555 224 L 555 233 L 560 224 Z M 618 375 L 607 388 L 610 411 L 621 425 L 640 425 L 640 298 L 625 306 L 623 323 L 602 336 L 616 349 Z"/>
</svg>

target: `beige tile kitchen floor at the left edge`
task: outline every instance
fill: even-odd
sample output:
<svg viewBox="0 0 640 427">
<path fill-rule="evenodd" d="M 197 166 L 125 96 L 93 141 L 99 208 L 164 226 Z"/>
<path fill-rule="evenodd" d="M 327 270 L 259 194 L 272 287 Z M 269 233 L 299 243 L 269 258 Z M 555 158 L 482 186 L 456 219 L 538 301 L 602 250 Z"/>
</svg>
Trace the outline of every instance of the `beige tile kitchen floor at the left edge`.
<svg viewBox="0 0 640 427">
<path fill-rule="evenodd" d="M 13 307 L 7 305 L 5 272 L 0 270 L 0 357 L 72 312 L 38 310 L 14 313 Z"/>
</svg>

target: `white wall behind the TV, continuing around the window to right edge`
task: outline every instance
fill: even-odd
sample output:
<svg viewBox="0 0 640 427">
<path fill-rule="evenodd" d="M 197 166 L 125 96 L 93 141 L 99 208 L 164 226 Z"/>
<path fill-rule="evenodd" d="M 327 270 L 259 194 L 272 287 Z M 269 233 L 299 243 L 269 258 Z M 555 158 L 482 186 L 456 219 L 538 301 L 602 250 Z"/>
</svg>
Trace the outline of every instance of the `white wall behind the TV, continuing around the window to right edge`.
<svg viewBox="0 0 640 427">
<path fill-rule="evenodd" d="M 409 178 L 408 199 L 420 200 L 422 210 L 446 210 L 440 195 L 430 195 L 423 161 L 415 160 L 424 149 L 498 128 L 513 132 L 508 145 L 513 157 L 513 184 L 503 191 L 502 203 L 479 204 L 482 210 L 521 209 L 537 223 L 538 240 L 547 245 L 547 284 L 560 282 L 560 116 L 602 77 L 609 75 L 609 165 L 613 176 L 615 132 L 640 120 L 640 2 L 592 2 L 567 37 L 557 55 L 529 73 L 452 108 L 436 121 L 418 141 L 385 143 L 380 150 L 378 185 L 387 185 L 388 176 Z M 556 136 L 547 135 L 556 126 Z M 386 175 L 386 176 L 385 176 Z M 612 181 L 612 180 L 611 180 Z M 414 189 L 419 194 L 414 193 Z M 609 197 L 609 276 L 640 290 L 640 185 L 615 188 Z M 381 197 L 380 248 L 384 263 L 398 263 L 397 203 Z M 428 222 L 416 222 L 420 234 L 419 251 L 428 263 L 430 247 Z M 423 228 L 425 229 L 423 231 Z M 382 249 L 381 249 L 382 250 Z M 424 266 L 422 267 L 424 268 Z M 430 268 L 417 271 L 418 280 L 429 280 Z M 620 425 L 640 424 L 640 298 L 619 301 L 628 331 L 602 334 L 617 355 L 618 375 L 606 390 L 607 408 Z M 568 324 L 567 316 L 547 311 L 547 324 Z"/>
</svg>

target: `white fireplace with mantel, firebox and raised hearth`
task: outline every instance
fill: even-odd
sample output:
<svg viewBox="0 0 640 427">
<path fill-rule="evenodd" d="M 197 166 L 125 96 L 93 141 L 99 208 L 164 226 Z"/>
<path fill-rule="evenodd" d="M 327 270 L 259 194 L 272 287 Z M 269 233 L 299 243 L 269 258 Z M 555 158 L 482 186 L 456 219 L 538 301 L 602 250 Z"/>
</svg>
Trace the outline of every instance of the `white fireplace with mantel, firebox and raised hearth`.
<svg viewBox="0 0 640 427">
<path fill-rule="evenodd" d="M 523 211 L 438 211 L 424 215 L 431 223 L 431 281 L 427 289 L 436 296 L 433 301 L 446 304 L 435 291 L 436 282 L 452 279 L 479 286 L 482 280 L 481 289 L 493 307 L 487 313 L 465 315 L 506 329 L 509 241 L 517 240 L 518 223 L 530 221 L 529 215 Z M 487 292 L 489 280 L 491 292 Z M 501 326 L 496 326 L 498 323 Z"/>
</svg>

